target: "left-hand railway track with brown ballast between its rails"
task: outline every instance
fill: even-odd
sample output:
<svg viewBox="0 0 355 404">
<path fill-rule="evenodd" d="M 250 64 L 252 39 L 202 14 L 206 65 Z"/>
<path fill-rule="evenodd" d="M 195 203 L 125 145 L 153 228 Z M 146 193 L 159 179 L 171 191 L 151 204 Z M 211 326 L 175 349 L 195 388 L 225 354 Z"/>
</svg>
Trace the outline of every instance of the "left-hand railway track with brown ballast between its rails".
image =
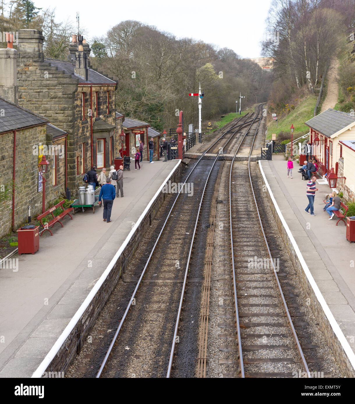
<svg viewBox="0 0 355 404">
<path fill-rule="evenodd" d="M 247 125 L 249 130 L 256 117 L 250 120 L 250 125 L 245 122 L 235 124 L 226 141 L 223 138 L 225 132 L 205 153 L 214 147 L 226 147 L 240 127 Z M 179 339 L 177 330 L 198 218 L 204 196 L 208 195 L 210 190 L 213 191 L 213 183 L 210 185 L 209 179 L 215 179 L 216 170 L 213 169 L 221 164 L 218 161 L 220 153 L 221 151 L 217 153 L 214 161 L 204 160 L 202 155 L 185 179 L 139 279 L 133 280 L 137 281 L 136 288 L 108 347 L 97 378 L 103 374 L 107 377 L 132 377 L 131 375 L 144 377 L 147 375 L 144 364 L 147 363 L 154 364 L 152 366 L 157 369 L 153 372 L 150 370 L 151 377 L 162 377 L 166 367 L 168 368 L 166 375 L 170 376 L 174 347 Z M 189 183 L 193 184 L 193 198 L 183 192 Z M 191 221 L 191 216 L 187 215 L 187 212 L 196 218 L 195 222 Z M 179 226 L 176 226 L 174 217 Z M 168 256 L 165 248 L 170 240 L 174 240 L 174 253 Z M 183 278 L 181 268 L 185 268 Z M 162 324 L 165 326 L 159 328 Z M 169 324 L 175 324 L 175 327 L 170 328 L 167 326 Z M 151 339 L 151 350 L 142 347 L 142 341 L 146 342 L 147 338 Z M 122 364 L 121 358 L 127 356 L 125 350 L 131 350 L 130 357 L 140 358 L 139 364 L 134 365 L 133 370 L 130 370 L 127 364 Z M 169 362 L 165 364 L 166 359 Z"/>
</svg>

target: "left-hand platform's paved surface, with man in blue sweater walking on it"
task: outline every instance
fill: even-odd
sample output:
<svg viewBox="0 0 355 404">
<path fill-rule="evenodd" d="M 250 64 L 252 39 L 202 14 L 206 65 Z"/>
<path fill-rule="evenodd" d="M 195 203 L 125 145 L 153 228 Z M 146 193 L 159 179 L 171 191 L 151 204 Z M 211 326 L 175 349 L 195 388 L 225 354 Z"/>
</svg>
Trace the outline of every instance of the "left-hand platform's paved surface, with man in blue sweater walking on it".
<svg viewBox="0 0 355 404">
<path fill-rule="evenodd" d="M 131 166 L 111 223 L 103 207 L 77 211 L 41 237 L 36 254 L 13 256 L 17 271 L 0 271 L 0 377 L 31 377 L 180 162 Z"/>
</svg>

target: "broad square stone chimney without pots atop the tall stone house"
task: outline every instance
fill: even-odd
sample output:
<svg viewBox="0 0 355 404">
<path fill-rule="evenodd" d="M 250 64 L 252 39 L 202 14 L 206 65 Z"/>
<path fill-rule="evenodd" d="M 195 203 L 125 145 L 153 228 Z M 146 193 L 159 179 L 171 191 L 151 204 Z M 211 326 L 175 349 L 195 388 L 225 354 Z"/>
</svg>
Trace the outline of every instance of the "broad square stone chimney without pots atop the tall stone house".
<svg viewBox="0 0 355 404">
<path fill-rule="evenodd" d="M 20 29 L 17 51 L 19 58 L 43 62 L 43 40 L 45 37 L 38 29 Z"/>
</svg>

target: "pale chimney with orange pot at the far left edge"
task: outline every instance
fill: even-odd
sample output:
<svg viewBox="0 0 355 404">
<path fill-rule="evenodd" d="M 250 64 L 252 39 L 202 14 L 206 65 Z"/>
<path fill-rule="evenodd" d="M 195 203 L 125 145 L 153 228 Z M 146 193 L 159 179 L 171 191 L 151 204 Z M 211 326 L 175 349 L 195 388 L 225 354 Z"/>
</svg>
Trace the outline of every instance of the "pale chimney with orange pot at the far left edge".
<svg viewBox="0 0 355 404">
<path fill-rule="evenodd" d="M 0 97 L 17 105 L 17 50 L 12 48 L 12 35 L 8 39 L 8 48 L 0 49 Z"/>
</svg>

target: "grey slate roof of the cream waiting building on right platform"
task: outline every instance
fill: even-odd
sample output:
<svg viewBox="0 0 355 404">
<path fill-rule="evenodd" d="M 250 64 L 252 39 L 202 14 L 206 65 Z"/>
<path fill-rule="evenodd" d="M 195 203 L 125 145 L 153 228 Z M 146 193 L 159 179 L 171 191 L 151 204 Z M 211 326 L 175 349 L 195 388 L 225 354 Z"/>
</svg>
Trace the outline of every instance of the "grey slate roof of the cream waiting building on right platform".
<svg viewBox="0 0 355 404">
<path fill-rule="evenodd" d="M 306 125 L 317 130 L 322 135 L 330 137 L 353 122 L 355 122 L 354 116 L 328 108 L 326 111 L 308 120 Z"/>
</svg>

